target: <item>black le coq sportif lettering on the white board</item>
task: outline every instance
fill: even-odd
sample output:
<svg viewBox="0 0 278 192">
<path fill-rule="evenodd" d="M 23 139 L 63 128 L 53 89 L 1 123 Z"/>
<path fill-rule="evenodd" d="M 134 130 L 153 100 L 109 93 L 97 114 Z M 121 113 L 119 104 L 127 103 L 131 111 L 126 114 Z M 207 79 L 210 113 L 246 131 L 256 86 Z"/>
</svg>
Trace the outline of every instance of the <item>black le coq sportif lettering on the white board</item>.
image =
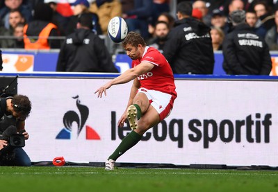
<svg viewBox="0 0 278 192">
<path fill-rule="evenodd" d="M 148 141 L 152 137 L 156 141 L 165 141 L 169 138 L 177 142 L 178 148 L 183 148 L 183 132 L 187 134 L 189 141 L 202 142 L 204 148 L 209 148 L 210 143 L 222 141 L 229 143 L 231 141 L 248 143 L 270 143 L 270 125 L 272 125 L 272 114 L 262 116 L 256 113 L 246 116 L 245 119 L 231 121 L 223 119 L 216 121 L 214 119 L 191 119 L 184 124 L 183 119 L 171 119 L 169 123 L 161 121 L 154 128 L 146 132 L 142 141 Z M 116 112 L 111 112 L 111 140 L 124 139 L 128 126 L 117 128 Z"/>
</svg>

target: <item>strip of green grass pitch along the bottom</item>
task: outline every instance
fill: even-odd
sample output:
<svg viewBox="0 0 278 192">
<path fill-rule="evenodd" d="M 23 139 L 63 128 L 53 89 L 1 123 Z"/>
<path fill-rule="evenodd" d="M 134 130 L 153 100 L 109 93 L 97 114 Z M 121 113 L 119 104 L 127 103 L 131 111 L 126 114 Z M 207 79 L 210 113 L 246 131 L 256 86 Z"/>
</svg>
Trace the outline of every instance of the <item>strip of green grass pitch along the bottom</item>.
<svg viewBox="0 0 278 192">
<path fill-rule="evenodd" d="M 0 167 L 1 191 L 278 191 L 278 171 L 92 166 Z"/>
</svg>

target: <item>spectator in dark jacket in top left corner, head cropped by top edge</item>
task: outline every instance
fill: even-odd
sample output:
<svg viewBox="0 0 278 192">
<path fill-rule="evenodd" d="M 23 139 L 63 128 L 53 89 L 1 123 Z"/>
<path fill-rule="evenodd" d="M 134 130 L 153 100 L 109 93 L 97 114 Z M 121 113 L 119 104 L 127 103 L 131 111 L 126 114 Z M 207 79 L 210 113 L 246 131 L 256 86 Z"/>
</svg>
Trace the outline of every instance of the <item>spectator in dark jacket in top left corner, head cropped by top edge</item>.
<svg viewBox="0 0 278 192">
<path fill-rule="evenodd" d="M 10 28 L 9 25 L 9 15 L 10 10 L 18 9 L 20 12 L 22 12 L 22 15 L 26 19 L 26 22 L 29 22 L 32 20 L 32 10 L 27 5 L 24 5 L 22 3 L 22 0 L 4 0 L 5 1 L 5 7 L 0 9 L 0 18 L 3 21 L 3 24 L 6 28 Z"/>
</svg>

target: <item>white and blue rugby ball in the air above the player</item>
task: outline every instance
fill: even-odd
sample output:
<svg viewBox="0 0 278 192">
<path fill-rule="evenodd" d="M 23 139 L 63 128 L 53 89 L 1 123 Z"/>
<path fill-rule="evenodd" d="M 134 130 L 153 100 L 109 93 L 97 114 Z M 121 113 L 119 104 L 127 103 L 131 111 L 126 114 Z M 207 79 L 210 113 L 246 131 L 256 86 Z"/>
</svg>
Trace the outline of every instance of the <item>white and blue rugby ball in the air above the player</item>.
<svg viewBox="0 0 278 192">
<path fill-rule="evenodd" d="M 124 40 L 128 32 L 126 21 L 122 17 L 113 17 L 108 24 L 107 33 L 110 39 L 115 43 Z"/>
</svg>

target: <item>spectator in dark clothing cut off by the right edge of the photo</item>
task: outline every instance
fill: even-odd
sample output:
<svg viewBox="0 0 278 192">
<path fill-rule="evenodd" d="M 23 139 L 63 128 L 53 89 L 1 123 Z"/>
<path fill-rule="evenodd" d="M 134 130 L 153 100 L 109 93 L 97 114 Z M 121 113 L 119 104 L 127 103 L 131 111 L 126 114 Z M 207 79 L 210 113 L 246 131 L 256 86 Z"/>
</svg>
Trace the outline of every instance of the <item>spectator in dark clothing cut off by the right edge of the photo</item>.
<svg viewBox="0 0 278 192">
<path fill-rule="evenodd" d="M 265 42 L 270 50 L 278 50 L 278 10 L 275 11 L 275 26 L 272 26 L 265 35 Z"/>
</svg>

